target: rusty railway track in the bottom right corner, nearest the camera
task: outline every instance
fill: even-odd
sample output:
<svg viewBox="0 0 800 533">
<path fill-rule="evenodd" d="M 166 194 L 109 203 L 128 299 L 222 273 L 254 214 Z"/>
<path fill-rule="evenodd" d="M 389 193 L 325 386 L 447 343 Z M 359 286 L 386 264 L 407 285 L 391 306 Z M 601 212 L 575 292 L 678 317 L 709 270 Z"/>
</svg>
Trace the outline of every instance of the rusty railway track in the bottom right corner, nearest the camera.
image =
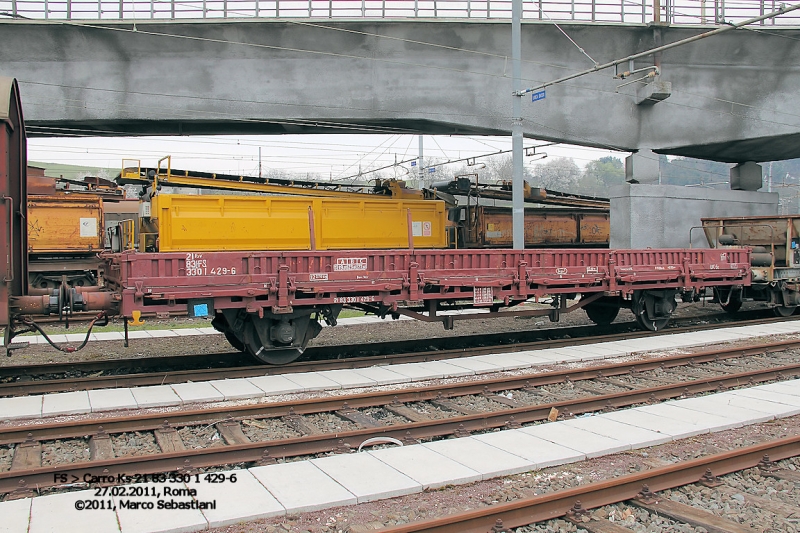
<svg viewBox="0 0 800 533">
<path fill-rule="evenodd" d="M 713 501 L 713 499 L 724 501 L 727 496 L 732 501 L 738 499 L 749 505 L 762 506 L 768 512 L 779 517 L 794 520 L 800 513 L 798 503 L 792 505 L 774 499 L 753 496 L 742 490 L 741 483 L 735 490 L 720 476 L 742 473 L 747 469 L 755 468 L 758 472 L 749 476 L 751 486 L 759 481 L 769 479 L 798 483 L 800 476 L 797 471 L 787 468 L 796 468 L 795 462 L 786 461 L 784 465 L 777 464 L 779 460 L 796 458 L 798 455 L 800 455 L 800 437 L 778 439 L 616 479 L 588 483 L 575 488 L 381 531 L 385 533 L 511 533 L 511 528 L 548 523 L 554 518 L 565 517 L 577 527 L 590 533 L 630 533 L 632 530 L 624 525 L 625 518 L 633 516 L 630 511 L 630 508 L 633 507 L 644 511 L 644 516 L 640 515 L 640 523 L 646 524 L 648 518 L 655 521 L 655 517 L 658 516 L 678 524 L 686 524 L 695 528 L 702 527 L 705 531 L 710 532 L 755 533 L 763 531 L 763 529 L 755 529 L 747 524 L 720 516 L 723 513 L 719 510 L 715 514 L 699 505 L 687 505 L 678 500 L 683 499 L 700 504 L 702 501 Z M 741 475 L 739 477 L 747 479 Z M 685 489 L 682 493 L 683 498 L 680 497 L 681 493 L 678 493 L 678 497 L 674 497 L 676 491 L 670 490 L 679 487 Z M 660 491 L 664 491 L 665 494 L 659 494 Z M 709 497 L 709 493 L 711 497 Z M 700 494 L 703 496 L 700 497 Z M 670 498 L 670 496 L 673 497 Z M 616 508 L 621 511 L 618 515 L 621 518 L 621 520 L 618 519 L 621 524 L 615 524 L 611 520 L 598 519 L 597 515 L 593 516 L 588 511 L 588 509 L 613 506 L 618 503 L 625 503 L 628 507 L 625 511 L 622 511 L 621 507 Z M 615 513 L 616 509 L 604 509 L 603 514 Z M 628 522 L 635 523 L 637 520 Z M 789 525 L 789 522 L 785 523 Z M 547 530 L 552 531 L 553 529 Z M 531 531 L 531 529 L 527 529 L 527 531 Z"/>
</svg>

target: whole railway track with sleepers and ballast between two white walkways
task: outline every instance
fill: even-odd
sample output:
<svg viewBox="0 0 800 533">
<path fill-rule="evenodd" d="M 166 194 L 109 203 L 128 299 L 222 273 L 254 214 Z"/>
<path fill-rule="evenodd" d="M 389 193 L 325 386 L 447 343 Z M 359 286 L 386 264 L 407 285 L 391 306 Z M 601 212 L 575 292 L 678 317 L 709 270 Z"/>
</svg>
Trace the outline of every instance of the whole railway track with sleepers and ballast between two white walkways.
<svg viewBox="0 0 800 533">
<path fill-rule="evenodd" d="M 783 380 L 800 376 L 797 349 L 800 341 L 785 341 L 334 398 L 6 425 L 0 427 L 0 493 L 57 486 L 56 474 L 268 464 L 349 451 L 375 437 L 464 436 Z"/>
</svg>

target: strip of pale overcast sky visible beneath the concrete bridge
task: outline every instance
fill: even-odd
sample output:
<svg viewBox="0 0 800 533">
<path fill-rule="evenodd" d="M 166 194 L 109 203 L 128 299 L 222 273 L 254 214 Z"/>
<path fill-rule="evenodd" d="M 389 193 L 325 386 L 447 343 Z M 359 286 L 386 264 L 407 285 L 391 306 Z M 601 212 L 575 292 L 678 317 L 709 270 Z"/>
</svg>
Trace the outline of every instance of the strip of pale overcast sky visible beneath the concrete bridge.
<svg viewBox="0 0 800 533">
<path fill-rule="evenodd" d="M 478 157 L 511 149 L 511 137 L 424 137 L 425 159 L 437 163 Z M 543 142 L 526 139 L 525 146 Z M 262 172 L 270 169 L 322 178 L 345 179 L 370 168 L 408 161 L 418 155 L 416 135 L 270 135 L 131 138 L 33 138 L 28 140 L 31 161 L 120 168 L 122 159 L 138 159 L 153 167 L 158 159 L 172 156 L 173 168 L 242 175 L 258 175 L 259 148 Z M 626 152 L 611 152 L 571 145 L 536 150 L 548 157 L 572 157 L 579 167 L 607 155 L 624 159 Z M 526 158 L 526 165 L 539 157 Z M 478 160 L 480 161 L 480 160 Z M 458 163 L 457 165 L 462 165 Z M 410 169 L 406 162 L 402 165 Z M 386 172 L 391 173 L 391 170 Z M 398 178 L 405 174 L 398 169 Z"/>
</svg>

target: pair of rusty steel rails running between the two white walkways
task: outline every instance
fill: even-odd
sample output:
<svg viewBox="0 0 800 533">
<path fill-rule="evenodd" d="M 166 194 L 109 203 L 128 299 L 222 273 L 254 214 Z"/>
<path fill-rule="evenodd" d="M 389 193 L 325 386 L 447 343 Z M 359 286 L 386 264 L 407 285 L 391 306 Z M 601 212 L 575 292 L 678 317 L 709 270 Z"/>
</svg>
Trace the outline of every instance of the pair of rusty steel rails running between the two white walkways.
<svg viewBox="0 0 800 533">
<path fill-rule="evenodd" d="M 740 350 L 730 350 L 734 356 L 740 355 Z M 697 354 L 694 354 L 697 357 Z M 712 360 L 714 360 L 713 356 Z M 689 356 L 683 358 L 683 363 L 688 364 L 694 359 Z M 647 364 L 658 364 L 651 361 Z M 608 368 L 609 374 L 616 371 L 627 372 L 635 368 L 636 363 L 612 365 Z M 598 369 L 582 373 L 570 374 L 570 379 L 578 379 L 578 374 L 584 374 L 586 379 L 597 377 Z M 605 375 L 605 373 L 601 373 Z M 162 472 L 169 468 L 180 466 L 176 460 L 189 460 L 194 467 L 211 466 L 212 464 L 232 464 L 242 461 L 256 461 L 265 451 L 272 457 L 296 456 L 313 453 L 327 452 L 332 449 L 344 447 L 357 447 L 364 440 L 376 435 L 389 436 L 398 439 L 422 439 L 450 434 L 464 434 L 469 431 L 481 431 L 491 428 L 514 426 L 516 424 L 542 421 L 548 418 L 552 409 L 568 414 L 599 411 L 607 408 L 630 406 L 637 403 L 646 403 L 654 400 L 664 400 L 680 397 L 687 394 L 711 392 L 719 388 L 739 386 L 742 383 L 757 383 L 774 380 L 779 377 L 800 375 L 800 364 L 785 365 L 769 370 L 750 371 L 739 374 L 730 374 L 714 378 L 693 379 L 692 381 L 663 385 L 658 387 L 643 388 L 601 396 L 576 398 L 572 400 L 551 402 L 536 406 L 523 406 L 497 412 L 479 413 L 473 415 L 457 416 L 445 420 L 426 420 L 386 426 L 382 428 L 366 428 L 355 431 L 346 431 L 335 434 L 309 435 L 304 437 L 284 439 L 272 442 L 257 442 L 229 446 L 223 449 L 199 449 L 183 452 L 180 456 L 160 454 L 157 456 L 137 458 L 115 458 L 99 463 L 76 463 L 56 467 L 41 467 L 24 471 L 0 472 L 0 492 L 17 490 L 20 484 L 26 486 L 38 485 L 41 487 L 52 486 L 53 473 L 69 473 L 70 475 L 82 472 L 109 471 L 125 472 Z M 553 382 L 557 377 L 543 376 L 543 383 Z M 42 425 L 29 425 L 25 427 L 9 427 L 0 429 L 0 444 L 36 442 L 57 438 L 82 437 L 95 433 L 118 433 L 123 431 L 143 431 L 163 428 L 165 420 L 169 421 L 167 427 L 183 425 L 207 425 L 223 422 L 228 419 L 237 420 L 251 417 L 278 417 L 311 414 L 322 411 L 336 411 L 370 407 L 376 405 L 396 405 L 402 407 L 403 402 L 424 401 L 442 396 L 455 396 L 460 394 L 477 394 L 483 391 L 503 390 L 516 386 L 534 386 L 534 378 L 517 378 L 511 380 L 496 380 L 490 382 L 461 383 L 452 386 L 434 386 L 423 389 L 410 389 L 406 391 L 385 391 L 379 393 L 356 394 L 338 398 L 319 398 L 313 400 L 299 400 L 283 402 L 267 406 L 233 406 L 207 410 L 183 411 L 173 413 L 156 413 L 149 415 L 122 416 L 102 420 L 83 422 L 59 422 Z M 524 381 L 523 381 L 524 380 Z M 490 388 L 491 385 L 491 388 Z M 82 474 L 81 474 L 82 475 Z"/>
</svg>

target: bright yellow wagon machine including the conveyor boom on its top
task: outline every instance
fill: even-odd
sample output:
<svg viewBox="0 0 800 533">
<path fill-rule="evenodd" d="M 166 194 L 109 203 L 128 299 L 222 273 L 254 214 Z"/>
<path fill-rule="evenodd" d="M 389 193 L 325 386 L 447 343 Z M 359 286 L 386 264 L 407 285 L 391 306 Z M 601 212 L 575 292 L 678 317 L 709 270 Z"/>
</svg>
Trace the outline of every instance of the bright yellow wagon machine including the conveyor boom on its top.
<svg viewBox="0 0 800 533">
<path fill-rule="evenodd" d="M 165 166 L 165 168 L 164 168 Z M 302 183 L 217 179 L 172 171 L 170 158 L 142 172 L 123 162 L 121 177 L 142 181 L 139 250 L 210 252 L 234 250 L 346 250 L 446 248 L 447 208 L 421 191 L 393 184 L 387 195 Z M 311 183 L 311 182 L 309 182 Z M 251 193 L 184 195 L 163 186 L 202 187 Z M 252 193 L 267 193 L 269 195 Z"/>
</svg>

